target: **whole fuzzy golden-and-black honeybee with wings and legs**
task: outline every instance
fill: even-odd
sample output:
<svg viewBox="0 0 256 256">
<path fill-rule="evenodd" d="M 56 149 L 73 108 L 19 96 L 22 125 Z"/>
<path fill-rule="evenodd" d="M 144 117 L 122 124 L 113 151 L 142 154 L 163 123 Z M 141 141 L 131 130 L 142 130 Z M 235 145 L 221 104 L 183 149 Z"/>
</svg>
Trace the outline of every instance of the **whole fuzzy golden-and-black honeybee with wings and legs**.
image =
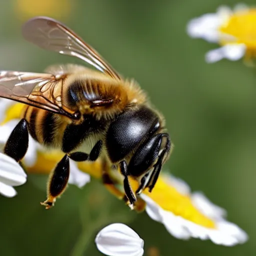
<svg viewBox="0 0 256 256">
<path fill-rule="evenodd" d="M 122 78 L 59 21 L 34 17 L 23 25 L 22 34 L 41 48 L 75 56 L 94 69 L 67 64 L 50 66 L 46 73 L 0 71 L 0 97 L 26 104 L 4 153 L 20 162 L 29 133 L 43 146 L 65 153 L 49 176 L 47 198 L 41 203 L 46 209 L 66 187 L 69 158 L 95 161 L 99 157 L 103 183 L 114 190 L 109 170 L 119 171 L 123 199 L 133 208 L 143 189 L 153 189 L 170 154 L 163 117 L 134 80 Z M 136 191 L 128 177 L 138 181 Z"/>
</svg>

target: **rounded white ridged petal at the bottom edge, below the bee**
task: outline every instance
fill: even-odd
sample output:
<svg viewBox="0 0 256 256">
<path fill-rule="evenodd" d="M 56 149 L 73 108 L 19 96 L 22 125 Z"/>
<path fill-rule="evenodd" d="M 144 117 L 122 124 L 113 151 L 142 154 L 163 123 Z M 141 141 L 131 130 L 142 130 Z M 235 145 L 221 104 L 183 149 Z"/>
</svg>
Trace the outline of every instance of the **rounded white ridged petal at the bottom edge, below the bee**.
<svg viewBox="0 0 256 256">
<path fill-rule="evenodd" d="M 99 251 L 109 256 L 142 256 L 144 241 L 130 227 L 122 223 L 101 229 L 95 243 Z"/>
</svg>

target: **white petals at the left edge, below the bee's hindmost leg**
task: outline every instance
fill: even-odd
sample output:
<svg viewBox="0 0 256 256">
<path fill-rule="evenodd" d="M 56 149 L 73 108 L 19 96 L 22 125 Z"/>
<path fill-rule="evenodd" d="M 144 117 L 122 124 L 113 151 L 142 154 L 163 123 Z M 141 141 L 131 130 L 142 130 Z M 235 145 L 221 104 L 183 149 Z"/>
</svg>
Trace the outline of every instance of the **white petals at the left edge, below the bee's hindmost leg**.
<svg viewBox="0 0 256 256">
<path fill-rule="evenodd" d="M 13 197 L 17 192 L 12 186 L 25 182 L 26 174 L 22 167 L 11 157 L 0 153 L 0 194 Z"/>
</svg>

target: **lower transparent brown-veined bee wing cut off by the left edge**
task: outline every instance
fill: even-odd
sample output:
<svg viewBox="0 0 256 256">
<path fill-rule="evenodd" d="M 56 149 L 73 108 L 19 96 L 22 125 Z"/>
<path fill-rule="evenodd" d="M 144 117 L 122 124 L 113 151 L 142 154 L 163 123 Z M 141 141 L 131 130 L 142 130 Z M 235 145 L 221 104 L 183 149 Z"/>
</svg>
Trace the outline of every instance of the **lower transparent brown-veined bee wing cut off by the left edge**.
<svg viewBox="0 0 256 256">
<path fill-rule="evenodd" d="M 72 118 L 73 112 L 61 105 L 61 90 L 56 90 L 61 79 L 47 73 L 0 70 L 0 97 Z"/>
</svg>

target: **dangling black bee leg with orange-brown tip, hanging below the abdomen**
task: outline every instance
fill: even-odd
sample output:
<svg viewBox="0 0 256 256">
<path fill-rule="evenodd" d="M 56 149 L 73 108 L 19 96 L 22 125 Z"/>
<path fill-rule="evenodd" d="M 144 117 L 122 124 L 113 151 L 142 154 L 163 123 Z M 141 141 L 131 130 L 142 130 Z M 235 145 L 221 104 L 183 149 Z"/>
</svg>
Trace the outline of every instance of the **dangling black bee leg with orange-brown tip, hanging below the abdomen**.
<svg viewBox="0 0 256 256">
<path fill-rule="evenodd" d="M 69 158 L 65 154 L 49 176 L 47 185 L 47 199 L 44 202 L 41 202 L 41 205 L 45 206 L 45 209 L 49 209 L 50 207 L 54 206 L 56 198 L 60 196 L 66 188 L 68 177 Z"/>
</svg>

